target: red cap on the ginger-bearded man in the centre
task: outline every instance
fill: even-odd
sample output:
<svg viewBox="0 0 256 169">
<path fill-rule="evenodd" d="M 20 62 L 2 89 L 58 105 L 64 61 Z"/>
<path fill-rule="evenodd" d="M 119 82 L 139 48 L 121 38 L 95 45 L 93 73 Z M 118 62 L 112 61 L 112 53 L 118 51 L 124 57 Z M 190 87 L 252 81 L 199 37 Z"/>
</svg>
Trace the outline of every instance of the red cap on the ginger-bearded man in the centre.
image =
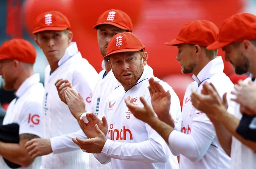
<svg viewBox="0 0 256 169">
<path fill-rule="evenodd" d="M 145 51 L 145 49 L 146 47 L 135 34 L 131 32 L 123 32 L 116 34 L 109 41 L 109 44 L 107 45 L 107 55 L 105 57 L 121 52 Z"/>
</svg>

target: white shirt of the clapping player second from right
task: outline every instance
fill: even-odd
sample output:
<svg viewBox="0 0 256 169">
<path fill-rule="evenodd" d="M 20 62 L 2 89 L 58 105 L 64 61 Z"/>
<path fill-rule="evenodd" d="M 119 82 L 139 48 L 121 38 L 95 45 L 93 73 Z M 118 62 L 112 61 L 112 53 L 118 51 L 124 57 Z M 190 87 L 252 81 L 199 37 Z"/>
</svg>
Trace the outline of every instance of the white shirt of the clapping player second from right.
<svg viewBox="0 0 256 169">
<path fill-rule="evenodd" d="M 225 92 L 230 92 L 234 85 L 223 70 L 223 60 L 219 56 L 211 60 L 198 76 L 192 76 L 195 82 L 187 87 L 180 118 L 181 132 L 173 131 L 169 135 L 171 151 L 175 155 L 180 154 L 180 169 L 230 168 L 230 157 L 220 146 L 214 125 L 207 115 L 197 110 L 190 101 L 191 89 L 197 89 L 201 93 L 202 82 L 212 83 L 221 98 Z"/>
</svg>

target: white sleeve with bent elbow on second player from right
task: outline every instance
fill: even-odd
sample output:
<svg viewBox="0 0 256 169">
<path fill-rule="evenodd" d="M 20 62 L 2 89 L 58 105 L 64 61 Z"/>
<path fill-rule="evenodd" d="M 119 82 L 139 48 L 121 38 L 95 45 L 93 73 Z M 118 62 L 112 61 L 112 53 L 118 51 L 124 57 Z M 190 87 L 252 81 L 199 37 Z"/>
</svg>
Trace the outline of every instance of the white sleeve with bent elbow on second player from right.
<svg viewBox="0 0 256 169">
<path fill-rule="evenodd" d="M 212 145 L 216 133 L 210 119 L 198 110 L 195 115 L 190 135 L 175 130 L 169 135 L 169 147 L 172 153 L 180 153 L 191 161 L 202 159 L 210 146 L 216 146 Z"/>
</svg>

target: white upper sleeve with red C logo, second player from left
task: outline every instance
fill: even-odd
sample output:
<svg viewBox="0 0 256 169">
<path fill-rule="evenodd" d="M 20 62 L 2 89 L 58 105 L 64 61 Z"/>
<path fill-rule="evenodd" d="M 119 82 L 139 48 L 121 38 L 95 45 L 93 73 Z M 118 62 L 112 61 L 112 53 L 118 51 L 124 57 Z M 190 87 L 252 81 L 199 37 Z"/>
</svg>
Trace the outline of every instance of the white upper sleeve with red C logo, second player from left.
<svg viewBox="0 0 256 169">
<path fill-rule="evenodd" d="M 99 80 L 99 75 L 86 73 L 83 69 L 77 69 L 73 74 L 73 87 L 77 92 L 81 93 L 85 101 L 85 109 L 87 112 L 91 112 L 92 109 L 92 97 L 95 86 Z"/>
</svg>

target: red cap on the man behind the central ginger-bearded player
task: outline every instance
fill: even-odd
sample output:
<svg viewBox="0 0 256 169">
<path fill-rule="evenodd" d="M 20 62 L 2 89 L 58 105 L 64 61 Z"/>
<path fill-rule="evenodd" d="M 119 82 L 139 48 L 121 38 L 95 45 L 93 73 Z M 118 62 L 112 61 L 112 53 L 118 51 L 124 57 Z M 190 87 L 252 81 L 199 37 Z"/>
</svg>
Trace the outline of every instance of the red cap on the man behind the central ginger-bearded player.
<svg viewBox="0 0 256 169">
<path fill-rule="evenodd" d="M 116 26 L 117 28 L 128 30 L 128 32 L 133 32 L 133 23 L 131 18 L 125 12 L 121 10 L 107 10 L 99 17 L 97 24 L 93 27 L 98 28 L 99 25 L 109 24 Z"/>
</svg>

